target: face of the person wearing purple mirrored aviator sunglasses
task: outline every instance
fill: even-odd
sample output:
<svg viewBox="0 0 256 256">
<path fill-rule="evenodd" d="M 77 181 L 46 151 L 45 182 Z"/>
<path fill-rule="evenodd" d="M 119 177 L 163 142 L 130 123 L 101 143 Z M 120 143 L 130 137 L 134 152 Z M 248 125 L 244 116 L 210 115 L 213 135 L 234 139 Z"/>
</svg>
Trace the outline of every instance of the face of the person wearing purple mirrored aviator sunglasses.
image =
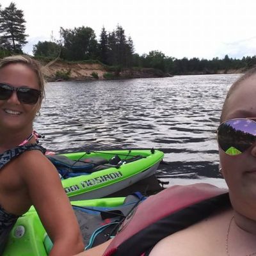
<svg viewBox="0 0 256 256">
<path fill-rule="evenodd" d="M 242 81 L 231 93 L 223 121 L 232 118 L 256 118 L 256 75 Z M 232 202 L 239 202 L 239 207 L 252 202 L 255 205 L 256 143 L 237 156 L 228 156 L 220 149 L 220 161 Z"/>
</svg>

